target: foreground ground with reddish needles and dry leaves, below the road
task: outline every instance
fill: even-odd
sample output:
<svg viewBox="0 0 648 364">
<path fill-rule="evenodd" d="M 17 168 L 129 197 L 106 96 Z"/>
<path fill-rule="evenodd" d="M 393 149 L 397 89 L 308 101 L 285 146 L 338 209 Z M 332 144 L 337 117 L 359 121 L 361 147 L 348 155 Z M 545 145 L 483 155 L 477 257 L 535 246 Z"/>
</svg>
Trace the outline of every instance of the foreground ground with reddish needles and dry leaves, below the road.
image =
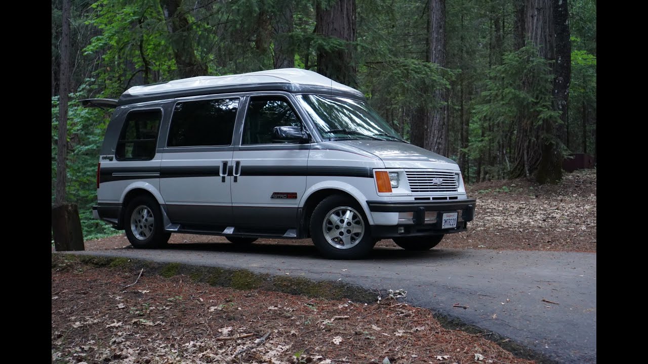
<svg viewBox="0 0 648 364">
<path fill-rule="evenodd" d="M 138 273 L 52 264 L 52 363 L 533 363 L 391 297 L 367 305 Z"/>
</svg>

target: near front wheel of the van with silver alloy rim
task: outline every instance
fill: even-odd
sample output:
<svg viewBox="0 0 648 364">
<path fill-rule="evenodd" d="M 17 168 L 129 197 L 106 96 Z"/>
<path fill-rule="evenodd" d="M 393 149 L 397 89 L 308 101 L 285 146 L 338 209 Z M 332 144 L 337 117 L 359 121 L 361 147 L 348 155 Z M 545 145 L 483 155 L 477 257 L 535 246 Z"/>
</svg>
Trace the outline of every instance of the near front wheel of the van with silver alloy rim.
<svg viewBox="0 0 648 364">
<path fill-rule="evenodd" d="M 319 252 L 333 259 L 362 258 L 376 244 L 360 205 L 343 195 L 329 196 L 315 207 L 310 235 Z"/>
</svg>

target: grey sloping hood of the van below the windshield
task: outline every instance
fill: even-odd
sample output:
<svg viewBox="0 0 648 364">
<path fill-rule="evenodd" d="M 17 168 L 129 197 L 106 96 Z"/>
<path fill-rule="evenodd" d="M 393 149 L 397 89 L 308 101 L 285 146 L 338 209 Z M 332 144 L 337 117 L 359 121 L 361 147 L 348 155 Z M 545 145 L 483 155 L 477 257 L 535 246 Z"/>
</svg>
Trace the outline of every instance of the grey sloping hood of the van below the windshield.
<svg viewBox="0 0 648 364">
<path fill-rule="evenodd" d="M 459 170 L 455 161 L 405 142 L 352 140 L 338 141 L 382 159 L 386 168 L 440 168 Z"/>
</svg>

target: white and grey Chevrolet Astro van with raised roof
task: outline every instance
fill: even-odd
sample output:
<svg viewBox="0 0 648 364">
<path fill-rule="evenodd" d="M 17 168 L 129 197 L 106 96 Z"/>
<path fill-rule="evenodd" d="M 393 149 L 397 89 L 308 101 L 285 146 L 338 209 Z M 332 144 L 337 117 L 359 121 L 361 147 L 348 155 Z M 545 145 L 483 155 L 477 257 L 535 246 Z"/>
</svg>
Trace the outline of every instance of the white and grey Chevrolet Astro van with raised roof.
<svg viewBox="0 0 648 364">
<path fill-rule="evenodd" d="M 115 108 L 93 216 L 135 248 L 172 233 L 312 238 L 323 256 L 362 258 L 380 239 L 431 249 L 474 217 L 457 163 L 312 71 L 199 76 L 82 104 Z"/>
</svg>

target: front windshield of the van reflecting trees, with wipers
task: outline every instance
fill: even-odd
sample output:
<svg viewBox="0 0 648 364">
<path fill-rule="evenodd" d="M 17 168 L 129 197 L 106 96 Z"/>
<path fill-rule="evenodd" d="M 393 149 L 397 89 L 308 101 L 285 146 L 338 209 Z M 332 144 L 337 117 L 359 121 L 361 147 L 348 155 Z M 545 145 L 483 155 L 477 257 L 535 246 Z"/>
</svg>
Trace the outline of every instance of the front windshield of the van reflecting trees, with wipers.
<svg viewBox="0 0 648 364">
<path fill-rule="evenodd" d="M 321 95 L 297 96 L 323 139 L 377 139 L 403 141 L 366 102 Z"/>
</svg>

